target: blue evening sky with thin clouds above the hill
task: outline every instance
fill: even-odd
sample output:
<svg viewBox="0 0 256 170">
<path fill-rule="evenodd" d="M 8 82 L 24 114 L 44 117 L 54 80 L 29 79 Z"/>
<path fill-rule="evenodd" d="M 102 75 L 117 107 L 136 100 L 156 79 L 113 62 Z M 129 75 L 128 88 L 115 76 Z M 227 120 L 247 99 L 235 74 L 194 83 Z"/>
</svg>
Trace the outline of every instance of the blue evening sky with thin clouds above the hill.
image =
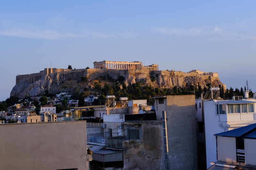
<svg viewBox="0 0 256 170">
<path fill-rule="evenodd" d="M 1 1 L 0 101 L 16 75 L 141 61 L 256 91 L 256 1 Z"/>
</svg>

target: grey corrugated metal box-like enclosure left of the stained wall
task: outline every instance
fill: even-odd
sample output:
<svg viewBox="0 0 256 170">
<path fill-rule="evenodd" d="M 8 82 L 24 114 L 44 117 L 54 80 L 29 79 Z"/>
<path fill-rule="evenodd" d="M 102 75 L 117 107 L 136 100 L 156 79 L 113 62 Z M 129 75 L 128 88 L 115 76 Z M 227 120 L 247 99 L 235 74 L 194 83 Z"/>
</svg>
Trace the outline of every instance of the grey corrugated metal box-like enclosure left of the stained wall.
<svg viewBox="0 0 256 170">
<path fill-rule="evenodd" d="M 100 162 L 123 161 L 122 151 L 100 150 L 92 152 L 93 160 Z"/>
</svg>

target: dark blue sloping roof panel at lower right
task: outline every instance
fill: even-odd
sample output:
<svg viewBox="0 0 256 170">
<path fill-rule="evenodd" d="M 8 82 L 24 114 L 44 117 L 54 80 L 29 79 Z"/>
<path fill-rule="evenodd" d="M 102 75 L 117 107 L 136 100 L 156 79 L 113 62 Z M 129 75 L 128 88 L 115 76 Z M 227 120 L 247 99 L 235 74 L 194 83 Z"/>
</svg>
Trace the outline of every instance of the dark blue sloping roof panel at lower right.
<svg viewBox="0 0 256 170">
<path fill-rule="evenodd" d="M 226 132 L 217 133 L 215 134 L 215 136 L 242 137 L 243 135 L 245 135 L 246 133 L 250 132 L 253 129 L 256 130 L 256 123 L 241 128 L 229 130 Z"/>
</svg>

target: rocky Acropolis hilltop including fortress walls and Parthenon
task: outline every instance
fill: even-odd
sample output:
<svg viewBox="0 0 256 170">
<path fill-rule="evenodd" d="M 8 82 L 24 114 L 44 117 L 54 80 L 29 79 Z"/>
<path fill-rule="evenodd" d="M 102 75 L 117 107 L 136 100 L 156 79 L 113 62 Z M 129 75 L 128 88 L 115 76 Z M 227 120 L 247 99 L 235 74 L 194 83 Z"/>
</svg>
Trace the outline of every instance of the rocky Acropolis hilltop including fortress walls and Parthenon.
<svg viewBox="0 0 256 170">
<path fill-rule="evenodd" d="M 99 77 L 111 77 L 118 79 L 119 76 L 124 77 L 124 83 L 144 82 L 144 84 L 152 85 L 153 87 L 173 88 L 174 86 L 184 87 L 187 85 L 197 85 L 198 82 L 202 87 L 211 83 L 215 87 L 222 86 L 218 73 L 202 72 L 192 70 L 184 73 L 174 70 L 158 70 L 157 64 L 144 66 L 142 62 L 94 62 L 93 69 L 56 69 L 45 68 L 39 73 L 27 75 L 17 75 L 16 85 L 11 91 L 11 96 L 17 95 L 20 98 L 25 96 L 34 97 L 43 95 L 45 90 L 49 93 L 72 91 L 75 87 L 83 89 L 87 86 L 93 86 Z M 78 84 L 77 81 L 81 77 L 87 76 L 88 83 Z M 67 83 L 66 86 L 63 82 Z M 75 85 L 74 85 L 75 82 Z M 68 88 L 67 88 L 68 85 Z M 83 87 L 82 87 L 83 85 Z M 226 85 L 223 84 L 224 89 Z"/>
</svg>

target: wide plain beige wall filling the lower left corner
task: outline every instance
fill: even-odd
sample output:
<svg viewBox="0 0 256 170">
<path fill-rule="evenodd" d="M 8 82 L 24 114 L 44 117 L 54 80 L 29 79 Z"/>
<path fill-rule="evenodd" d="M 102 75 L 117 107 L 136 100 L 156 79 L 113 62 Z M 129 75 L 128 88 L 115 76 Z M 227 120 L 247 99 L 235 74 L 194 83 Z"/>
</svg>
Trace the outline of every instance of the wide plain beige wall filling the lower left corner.
<svg viewBox="0 0 256 170">
<path fill-rule="evenodd" d="M 0 169 L 89 170 L 86 121 L 0 124 Z"/>
</svg>

